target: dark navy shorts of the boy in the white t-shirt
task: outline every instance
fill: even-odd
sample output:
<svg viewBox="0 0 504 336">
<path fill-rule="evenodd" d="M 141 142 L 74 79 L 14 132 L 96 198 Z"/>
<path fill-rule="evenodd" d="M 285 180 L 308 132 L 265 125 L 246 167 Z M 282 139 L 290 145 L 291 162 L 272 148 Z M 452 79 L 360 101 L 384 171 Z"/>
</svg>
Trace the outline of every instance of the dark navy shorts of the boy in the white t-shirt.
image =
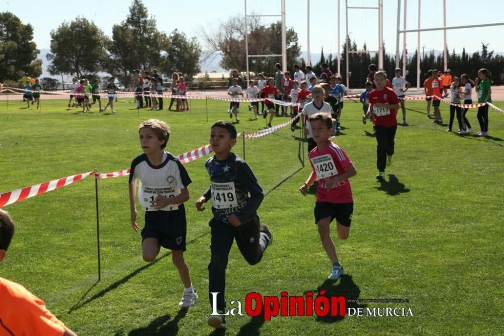
<svg viewBox="0 0 504 336">
<path fill-rule="evenodd" d="M 146 211 L 142 242 L 146 238 L 156 238 L 159 245 L 166 249 L 185 251 L 186 231 L 183 204 L 173 211 Z"/>
</svg>

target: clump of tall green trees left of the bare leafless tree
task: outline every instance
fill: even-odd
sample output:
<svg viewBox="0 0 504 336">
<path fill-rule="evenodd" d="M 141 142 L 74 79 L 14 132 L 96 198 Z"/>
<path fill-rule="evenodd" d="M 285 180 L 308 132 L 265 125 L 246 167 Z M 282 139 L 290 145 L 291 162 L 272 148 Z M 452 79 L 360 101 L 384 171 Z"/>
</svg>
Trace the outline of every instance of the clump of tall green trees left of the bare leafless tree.
<svg viewBox="0 0 504 336">
<path fill-rule="evenodd" d="M 176 29 L 169 36 L 160 32 L 141 0 L 134 0 L 128 17 L 112 27 L 111 39 L 85 18 L 62 23 L 51 32 L 47 59 L 51 75 L 80 77 L 104 71 L 127 85 L 137 68 L 156 68 L 164 74 L 177 71 L 192 78 L 200 72 L 200 54 L 196 38 L 188 39 Z"/>
</svg>

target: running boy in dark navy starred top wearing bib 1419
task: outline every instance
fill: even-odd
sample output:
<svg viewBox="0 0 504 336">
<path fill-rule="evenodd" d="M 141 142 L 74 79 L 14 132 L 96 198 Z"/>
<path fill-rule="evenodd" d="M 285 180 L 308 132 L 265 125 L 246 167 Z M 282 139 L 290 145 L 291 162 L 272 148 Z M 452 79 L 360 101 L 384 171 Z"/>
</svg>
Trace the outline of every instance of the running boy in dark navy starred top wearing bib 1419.
<svg viewBox="0 0 504 336">
<path fill-rule="evenodd" d="M 236 240 L 238 248 L 250 265 L 263 258 L 264 251 L 271 244 L 273 235 L 269 228 L 260 224 L 257 209 L 263 201 L 263 189 L 250 166 L 231 152 L 236 144 L 236 128 L 226 121 L 212 125 L 210 144 L 215 156 L 205 162 L 211 185 L 196 202 L 198 211 L 212 199 L 213 218 L 211 228 L 211 259 L 208 265 L 208 292 L 210 305 L 218 314 L 210 315 L 207 323 L 214 328 L 225 328 L 223 314 L 226 308 L 224 291 L 226 287 L 226 266 L 229 251 Z M 213 307 L 211 293 L 218 293 Z"/>
</svg>

